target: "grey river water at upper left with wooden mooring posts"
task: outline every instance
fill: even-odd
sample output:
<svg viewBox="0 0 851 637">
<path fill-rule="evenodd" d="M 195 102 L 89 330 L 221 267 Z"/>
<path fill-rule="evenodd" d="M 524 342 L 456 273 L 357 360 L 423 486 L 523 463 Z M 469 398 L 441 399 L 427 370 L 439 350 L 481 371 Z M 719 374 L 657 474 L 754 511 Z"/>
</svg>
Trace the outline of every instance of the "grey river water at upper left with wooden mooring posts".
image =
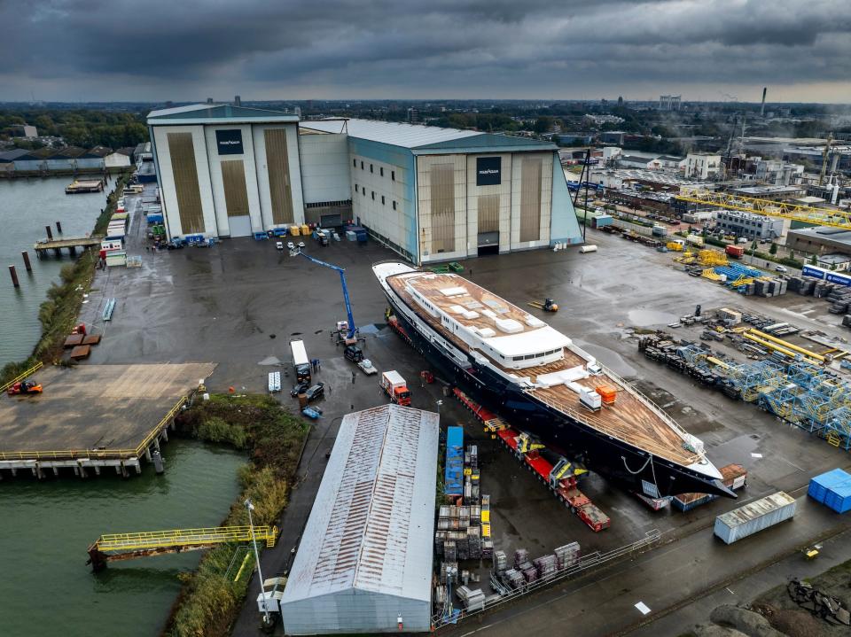
<svg viewBox="0 0 851 637">
<path fill-rule="evenodd" d="M 56 222 L 62 224 L 63 237 L 83 237 L 91 232 L 107 192 L 66 195 L 71 177 L 0 180 L 0 367 L 10 361 L 26 359 L 42 334 L 38 307 L 51 283 L 59 280 L 59 269 L 71 258 L 45 256 L 35 258 L 33 244 L 45 238 L 44 226 L 50 225 L 53 237 Z M 112 190 L 114 180 L 107 185 Z M 21 250 L 29 252 L 32 274 L 24 268 Z M 20 288 L 12 287 L 9 266 L 18 270 Z"/>
</svg>

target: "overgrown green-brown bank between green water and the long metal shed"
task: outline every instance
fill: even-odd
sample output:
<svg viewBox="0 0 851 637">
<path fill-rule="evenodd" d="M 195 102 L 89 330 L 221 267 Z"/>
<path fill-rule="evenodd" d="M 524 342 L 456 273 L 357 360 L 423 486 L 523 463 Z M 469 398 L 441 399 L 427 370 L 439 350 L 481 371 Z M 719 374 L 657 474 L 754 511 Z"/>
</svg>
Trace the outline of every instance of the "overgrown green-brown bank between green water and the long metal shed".
<svg viewBox="0 0 851 637">
<path fill-rule="evenodd" d="M 248 524 L 243 506 L 254 502 L 254 524 L 274 524 L 287 503 L 290 480 L 298 465 L 308 424 L 264 395 L 214 394 L 197 401 L 176 419 L 178 431 L 192 438 L 245 449 L 250 461 L 239 470 L 242 487 L 224 526 Z M 240 577 L 239 566 L 248 555 Z M 163 634 L 174 637 L 227 635 L 238 617 L 254 567 L 254 556 L 238 545 L 207 551 L 196 571 L 182 576 L 177 598 Z"/>
</svg>

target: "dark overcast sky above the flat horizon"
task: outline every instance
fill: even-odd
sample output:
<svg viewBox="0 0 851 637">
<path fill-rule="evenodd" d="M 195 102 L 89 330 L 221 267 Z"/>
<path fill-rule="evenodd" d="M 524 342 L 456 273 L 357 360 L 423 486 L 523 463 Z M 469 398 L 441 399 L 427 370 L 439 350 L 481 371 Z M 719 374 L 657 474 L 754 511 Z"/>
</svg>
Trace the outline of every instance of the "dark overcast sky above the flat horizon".
<svg viewBox="0 0 851 637">
<path fill-rule="evenodd" d="M 851 0 L 0 0 L 0 100 L 851 103 Z"/>
</svg>

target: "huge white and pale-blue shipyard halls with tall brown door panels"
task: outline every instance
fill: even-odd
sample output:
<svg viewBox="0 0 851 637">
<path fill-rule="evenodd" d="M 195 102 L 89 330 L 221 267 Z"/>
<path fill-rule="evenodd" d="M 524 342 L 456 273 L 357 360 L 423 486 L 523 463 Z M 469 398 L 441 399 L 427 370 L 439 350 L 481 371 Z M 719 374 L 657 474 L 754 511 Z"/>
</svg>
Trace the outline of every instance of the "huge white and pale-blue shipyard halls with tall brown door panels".
<svg viewBox="0 0 851 637">
<path fill-rule="evenodd" d="M 582 242 L 547 142 L 237 105 L 148 125 L 169 237 L 351 220 L 415 264 Z"/>
</svg>

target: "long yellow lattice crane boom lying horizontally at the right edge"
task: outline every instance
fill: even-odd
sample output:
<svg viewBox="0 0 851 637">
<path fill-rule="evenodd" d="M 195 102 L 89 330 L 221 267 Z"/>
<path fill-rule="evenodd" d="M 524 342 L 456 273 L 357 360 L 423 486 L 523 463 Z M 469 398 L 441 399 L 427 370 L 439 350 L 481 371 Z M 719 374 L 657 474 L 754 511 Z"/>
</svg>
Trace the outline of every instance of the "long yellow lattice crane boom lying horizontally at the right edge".
<svg viewBox="0 0 851 637">
<path fill-rule="evenodd" d="M 780 219 L 804 221 L 819 226 L 851 230 L 851 212 L 849 211 L 814 208 L 788 201 L 772 201 L 771 199 L 744 197 L 731 192 L 710 192 L 708 190 L 687 190 L 676 195 L 676 198 L 704 206 L 715 206 L 728 210 L 739 210 L 743 213 L 762 214 L 768 217 L 779 217 Z"/>
</svg>

